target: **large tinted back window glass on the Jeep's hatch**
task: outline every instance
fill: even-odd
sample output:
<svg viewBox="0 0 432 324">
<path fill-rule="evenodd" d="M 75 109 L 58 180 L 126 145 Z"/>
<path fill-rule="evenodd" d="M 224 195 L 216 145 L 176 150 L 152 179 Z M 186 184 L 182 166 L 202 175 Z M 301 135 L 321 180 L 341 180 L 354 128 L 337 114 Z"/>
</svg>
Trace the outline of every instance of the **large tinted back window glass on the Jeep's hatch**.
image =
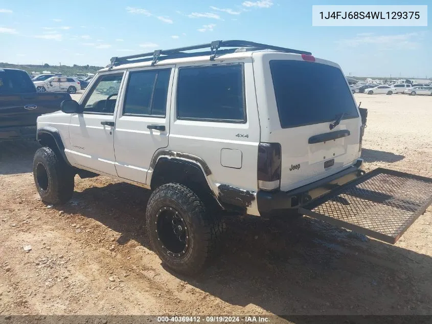
<svg viewBox="0 0 432 324">
<path fill-rule="evenodd" d="M 270 61 L 282 128 L 358 117 L 345 77 L 339 69 L 298 60 Z"/>
</svg>

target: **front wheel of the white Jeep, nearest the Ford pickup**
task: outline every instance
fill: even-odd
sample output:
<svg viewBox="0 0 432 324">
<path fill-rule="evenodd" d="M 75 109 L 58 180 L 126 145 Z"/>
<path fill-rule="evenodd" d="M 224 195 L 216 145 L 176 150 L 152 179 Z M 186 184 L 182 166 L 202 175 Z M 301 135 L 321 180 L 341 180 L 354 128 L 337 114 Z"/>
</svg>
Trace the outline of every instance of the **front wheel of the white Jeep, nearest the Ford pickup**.
<svg viewBox="0 0 432 324">
<path fill-rule="evenodd" d="M 43 202 L 63 204 L 74 192 L 72 168 L 49 147 L 39 148 L 33 159 L 33 178 Z"/>
</svg>

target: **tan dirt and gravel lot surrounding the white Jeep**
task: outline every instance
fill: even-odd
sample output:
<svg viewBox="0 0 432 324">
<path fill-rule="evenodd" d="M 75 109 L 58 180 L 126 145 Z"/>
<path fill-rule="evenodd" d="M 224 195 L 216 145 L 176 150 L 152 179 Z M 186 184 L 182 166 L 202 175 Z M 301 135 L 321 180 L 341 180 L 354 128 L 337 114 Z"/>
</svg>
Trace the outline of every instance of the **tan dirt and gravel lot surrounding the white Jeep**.
<svg viewBox="0 0 432 324">
<path fill-rule="evenodd" d="M 369 109 L 364 168 L 432 177 L 432 97 L 355 98 Z M 226 219 L 220 257 L 186 278 L 149 245 L 148 191 L 77 177 L 50 208 L 36 148 L 0 143 L 0 314 L 432 314 L 432 208 L 394 246 L 306 217 Z"/>
</svg>

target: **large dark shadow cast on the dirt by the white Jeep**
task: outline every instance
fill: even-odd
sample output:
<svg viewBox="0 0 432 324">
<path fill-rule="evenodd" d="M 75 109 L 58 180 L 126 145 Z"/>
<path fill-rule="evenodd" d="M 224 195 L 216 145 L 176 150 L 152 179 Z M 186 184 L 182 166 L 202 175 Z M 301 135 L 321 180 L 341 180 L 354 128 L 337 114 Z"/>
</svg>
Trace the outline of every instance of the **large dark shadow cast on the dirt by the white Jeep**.
<svg viewBox="0 0 432 324">
<path fill-rule="evenodd" d="M 149 191 L 126 183 L 87 187 L 62 210 L 120 232 L 119 244 L 135 240 L 152 249 L 144 221 L 148 197 Z M 206 270 L 193 278 L 170 272 L 250 313 L 258 306 L 279 315 L 432 314 L 427 255 L 307 217 L 243 216 L 225 223 L 222 249 Z"/>
</svg>

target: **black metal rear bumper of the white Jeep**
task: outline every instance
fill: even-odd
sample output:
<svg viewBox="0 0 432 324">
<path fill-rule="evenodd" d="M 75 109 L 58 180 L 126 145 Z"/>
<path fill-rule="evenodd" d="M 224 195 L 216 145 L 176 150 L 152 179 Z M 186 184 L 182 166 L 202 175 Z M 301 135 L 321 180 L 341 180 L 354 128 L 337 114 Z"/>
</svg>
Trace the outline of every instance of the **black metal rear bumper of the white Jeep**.
<svg viewBox="0 0 432 324">
<path fill-rule="evenodd" d="M 358 159 L 355 164 L 345 170 L 290 191 L 258 191 L 258 211 L 262 217 L 271 217 L 289 209 L 299 208 L 330 190 L 359 177 L 363 173 L 360 170 L 362 163 L 363 160 Z"/>
</svg>

